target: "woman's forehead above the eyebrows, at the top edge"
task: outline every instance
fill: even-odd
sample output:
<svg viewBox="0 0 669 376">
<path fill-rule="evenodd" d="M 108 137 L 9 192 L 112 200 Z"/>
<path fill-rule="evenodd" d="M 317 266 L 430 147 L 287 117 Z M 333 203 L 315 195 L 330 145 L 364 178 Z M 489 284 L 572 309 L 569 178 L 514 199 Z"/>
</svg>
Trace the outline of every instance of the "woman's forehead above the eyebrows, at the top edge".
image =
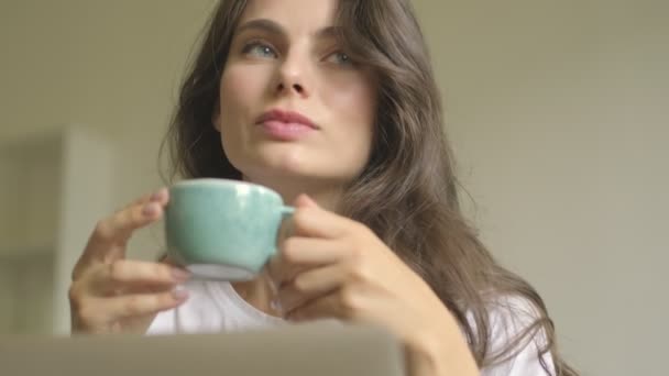
<svg viewBox="0 0 669 376">
<path fill-rule="evenodd" d="M 333 24 L 339 0 L 250 0 L 239 24 L 267 19 L 292 32 L 314 32 Z"/>
</svg>

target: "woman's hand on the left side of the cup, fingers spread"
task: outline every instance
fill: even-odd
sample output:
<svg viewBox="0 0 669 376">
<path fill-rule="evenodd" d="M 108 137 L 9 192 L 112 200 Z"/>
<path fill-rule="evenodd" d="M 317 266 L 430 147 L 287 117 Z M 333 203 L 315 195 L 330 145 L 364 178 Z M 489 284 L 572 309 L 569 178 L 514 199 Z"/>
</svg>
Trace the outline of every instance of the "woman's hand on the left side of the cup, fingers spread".
<svg viewBox="0 0 669 376">
<path fill-rule="evenodd" d="M 186 301 L 177 286 L 188 279 L 187 272 L 125 258 L 132 233 L 158 221 L 168 201 L 163 188 L 98 222 L 73 270 L 73 332 L 144 333 L 160 311 Z"/>
</svg>

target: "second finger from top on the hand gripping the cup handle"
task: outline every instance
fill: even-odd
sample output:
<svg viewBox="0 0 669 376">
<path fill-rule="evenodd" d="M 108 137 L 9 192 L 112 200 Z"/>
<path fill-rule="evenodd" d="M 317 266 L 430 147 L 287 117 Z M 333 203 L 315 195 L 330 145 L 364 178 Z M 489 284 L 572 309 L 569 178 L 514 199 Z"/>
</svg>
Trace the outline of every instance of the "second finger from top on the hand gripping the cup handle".
<svg viewBox="0 0 669 376">
<path fill-rule="evenodd" d="M 279 244 L 266 269 L 270 278 L 279 286 L 305 269 L 337 263 L 343 255 L 339 242 L 292 236 Z"/>
</svg>

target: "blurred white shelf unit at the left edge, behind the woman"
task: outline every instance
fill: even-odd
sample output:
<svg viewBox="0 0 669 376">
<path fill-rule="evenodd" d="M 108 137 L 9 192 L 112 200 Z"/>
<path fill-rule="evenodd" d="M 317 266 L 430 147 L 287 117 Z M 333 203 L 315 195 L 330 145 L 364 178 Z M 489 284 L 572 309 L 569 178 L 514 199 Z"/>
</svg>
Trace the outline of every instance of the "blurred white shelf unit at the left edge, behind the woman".
<svg viewBox="0 0 669 376">
<path fill-rule="evenodd" d="M 0 143 L 0 335 L 69 332 L 72 268 L 110 211 L 111 168 L 81 128 Z"/>
</svg>

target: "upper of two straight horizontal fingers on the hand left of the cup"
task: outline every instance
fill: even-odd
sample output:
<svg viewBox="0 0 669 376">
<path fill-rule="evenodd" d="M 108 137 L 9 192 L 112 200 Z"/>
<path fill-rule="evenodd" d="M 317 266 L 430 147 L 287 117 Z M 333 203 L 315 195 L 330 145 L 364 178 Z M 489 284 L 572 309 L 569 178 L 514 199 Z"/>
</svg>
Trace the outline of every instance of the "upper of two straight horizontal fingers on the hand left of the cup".
<svg viewBox="0 0 669 376">
<path fill-rule="evenodd" d="M 119 289 L 169 288 L 189 278 L 188 272 L 167 264 L 118 259 L 98 268 L 92 286 L 98 294 L 108 294 Z"/>
</svg>

